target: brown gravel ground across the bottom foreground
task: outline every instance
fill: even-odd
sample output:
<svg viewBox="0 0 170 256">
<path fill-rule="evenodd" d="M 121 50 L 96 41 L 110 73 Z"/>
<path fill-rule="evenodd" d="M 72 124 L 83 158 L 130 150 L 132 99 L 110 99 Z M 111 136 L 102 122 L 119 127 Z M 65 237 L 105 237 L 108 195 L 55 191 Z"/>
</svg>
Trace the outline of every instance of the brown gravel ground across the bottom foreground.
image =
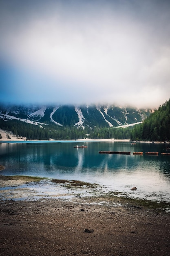
<svg viewBox="0 0 170 256">
<path fill-rule="evenodd" d="M 1 201 L 0 255 L 170 255 L 170 213 L 76 200 Z"/>
</svg>

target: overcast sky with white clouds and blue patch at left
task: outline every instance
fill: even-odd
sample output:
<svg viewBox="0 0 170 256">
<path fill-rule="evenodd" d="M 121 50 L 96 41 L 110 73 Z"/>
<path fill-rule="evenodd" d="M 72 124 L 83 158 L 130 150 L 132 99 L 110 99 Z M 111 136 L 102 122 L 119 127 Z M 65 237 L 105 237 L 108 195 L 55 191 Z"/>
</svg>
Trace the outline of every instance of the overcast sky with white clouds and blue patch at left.
<svg viewBox="0 0 170 256">
<path fill-rule="evenodd" d="M 169 0 L 0 0 L 0 102 L 169 98 Z"/>
</svg>

